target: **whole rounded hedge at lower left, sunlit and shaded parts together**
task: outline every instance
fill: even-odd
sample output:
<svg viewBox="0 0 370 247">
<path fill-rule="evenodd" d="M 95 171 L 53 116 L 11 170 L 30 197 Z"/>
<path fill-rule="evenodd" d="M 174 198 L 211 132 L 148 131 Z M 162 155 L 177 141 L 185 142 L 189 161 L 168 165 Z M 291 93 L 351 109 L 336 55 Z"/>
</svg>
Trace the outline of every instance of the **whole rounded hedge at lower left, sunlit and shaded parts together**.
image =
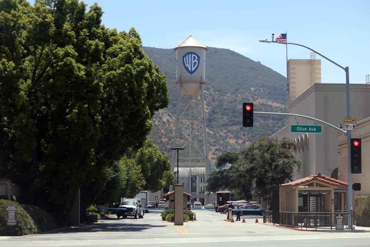
<svg viewBox="0 0 370 247">
<path fill-rule="evenodd" d="M 17 206 L 17 226 L 6 225 L 6 206 Z M 36 206 L 0 200 L 0 236 L 22 236 L 53 230 L 57 227 L 55 218 Z"/>
</svg>

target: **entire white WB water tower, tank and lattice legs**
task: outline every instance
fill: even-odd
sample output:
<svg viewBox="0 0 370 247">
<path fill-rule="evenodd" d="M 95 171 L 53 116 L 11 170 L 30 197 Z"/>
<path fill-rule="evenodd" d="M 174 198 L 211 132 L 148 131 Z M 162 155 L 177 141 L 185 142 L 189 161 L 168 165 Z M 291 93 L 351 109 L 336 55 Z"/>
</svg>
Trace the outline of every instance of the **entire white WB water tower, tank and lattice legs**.
<svg viewBox="0 0 370 247">
<path fill-rule="evenodd" d="M 189 36 L 176 51 L 177 107 L 174 147 L 179 152 L 179 183 L 192 198 L 207 198 L 205 179 L 211 167 L 208 160 L 207 127 L 204 109 L 205 52 L 207 47 Z M 177 170 L 177 152 L 172 151 L 172 171 Z M 176 178 L 176 176 L 175 176 Z"/>
</svg>

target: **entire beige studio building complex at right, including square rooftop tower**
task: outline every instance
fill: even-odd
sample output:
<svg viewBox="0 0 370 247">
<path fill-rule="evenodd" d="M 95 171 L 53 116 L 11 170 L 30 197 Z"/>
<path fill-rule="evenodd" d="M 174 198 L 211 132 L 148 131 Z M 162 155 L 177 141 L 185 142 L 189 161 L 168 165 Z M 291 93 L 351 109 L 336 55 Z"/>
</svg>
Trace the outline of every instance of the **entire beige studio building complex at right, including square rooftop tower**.
<svg viewBox="0 0 370 247">
<path fill-rule="evenodd" d="M 343 126 L 343 117 L 347 115 L 346 84 L 321 83 L 321 60 L 314 59 L 315 56 L 312 56 L 312 58 L 288 60 L 288 113 L 320 119 L 333 126 L 339 126 L 339 124 Z M 351 117 L 356 117 L 358 123 L 357 131 L 352 131 L 352 138 L 362 138 L 362 173 L 353 174 L 352 177 L 353 183 L 360 182 L 362 188 L 361 191 L 353 191 L 354 196 L 370 195 L 370 169 L 368 168 L 370 157 L 369 86 L 369 83 L 350 83 Z M 330 185 L 326 182 L 321 183 L 321 186 L 331 186 L 335 190 L 325 188 L 327 191 L 333 191 L 333 195 L 326 197 L 323 192 L 321 201 L 315 210 L 332 211 L 332 208 L 334 210 L 346 210 L 347 188 L 343 185 L 347 182 L 347 137 L 324 125 L 321 134 L 290 133 L 290 125 L 296 125 L 297 121 L 299 125 L 315 124 L 312 120 L 287 117 L 287 126 L 272 135 L 277 138 L 288 137 L 295 141 L 296 148 L 293 154 L 302 162 L 300 173 L 295 172 L 294 180 L 300 181 L 299 183 L 293 183 L 297 184 L 297 187 L 294 188 L 296 192 L 289 194 L 290 200 L 292 200 L 293 195 L 295 201 L 293 206 L 296 205 L 291 210 L 295 211 L 297 208 L 302 208 L 303 201 L 298 200 L 300 195 L 298 191 L 304 190 L 303 187 L 310 187 L 309 184 L 313 178 L 320 179 L 317 174 L 323 175 L 322 177 L 333 178 L 333 184 Z M 317 125 L 322 124 L 317 123 Z M 316 176 L 314 176 L 315 174 Z M 307 183 L 302 183 L 305 180 L 307 180 Z M 326 180 L 328 179 L 326 178 Z M 316 182 L 311 184 L 316 186 Z M 317 184 L 320 184 L 320 181 Z M 283 190 L 286 189 L 287 184 L 280 185 L 280 194 L 282 188 Z M 330 200 L 325 198 L 335 199 L 334 207 L 325 205 L 326 201 L 326 204 L 330 203 Z M 305 203 L 306 201 L 303 204 Z M 280 207 L 281 205 L 280 202 Z M 287 208 L 283 206 L 283 208 L 280 208 L 281 210 L 285 211 Z"/>
</svg>

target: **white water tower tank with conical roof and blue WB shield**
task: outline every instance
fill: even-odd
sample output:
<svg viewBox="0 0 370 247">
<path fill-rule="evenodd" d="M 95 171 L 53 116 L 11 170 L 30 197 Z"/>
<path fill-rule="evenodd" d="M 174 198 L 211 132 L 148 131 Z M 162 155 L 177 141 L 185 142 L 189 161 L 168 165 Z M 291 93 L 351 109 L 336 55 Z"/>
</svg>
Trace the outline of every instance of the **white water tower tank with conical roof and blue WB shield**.
<svg viewBox="0 0 370 247">
<path fill-rule="evenodd" d="M 176 79 L 180 83 L 181 94 L 188 98 L 199 96 L 201 85 L 206 80 L 206 50 L 207 47 L 189 36 L 174 48 L 176 51 Z"/>
</svg>

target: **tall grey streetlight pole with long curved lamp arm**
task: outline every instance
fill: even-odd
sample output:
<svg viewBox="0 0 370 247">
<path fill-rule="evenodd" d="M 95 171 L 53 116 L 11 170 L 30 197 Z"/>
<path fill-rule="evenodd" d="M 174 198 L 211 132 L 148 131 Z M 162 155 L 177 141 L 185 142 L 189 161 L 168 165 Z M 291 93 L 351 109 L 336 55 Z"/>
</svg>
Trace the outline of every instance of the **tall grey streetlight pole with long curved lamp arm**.
<svg viewBox="0 0 370 247">
<path fill-rule="evenodd" d="M 313 51 L 314 53 L 316 54 L 319 54 L 320 56 L 322 56 L 324 59 L 332 62 L 333 64 L 335 64 L 336 66 L 340 67 L 341 69 L 343 69 L 344 71 L 346 71 L 346 93 L 347 93 L 347 117 L 351 117 L 351 109 L 350 109 L 350 99 L 349 99 L 349 68 L 348 66 L 347 67 L 343 67 L 343 66 L 340 66 L 339 64 L 337 64 L 336 62 L 328 59 L 327 57 L 323 56 L 322 54 L 318 53 L 317 51 L 311 49 L 310 47 L 307 47 L 307 46 L 303 46 L 301 44 L 296 44 L 296 43 L 280 43 L 280 42 L 277 42 L 277 41 L 268 41 L 268 40 L 259 40 L 259 42 L 262 42 L 262 43 L 278 43 L 278 44 L 294 44 L 296 46 L 302 46 L 302 47 L 305 47 L 311 51 Z M 347 166 L 347 172 L 348 172 L 348 188 L 347 188 L 347 210 L 348 210 L 348 228 L 352 229 L 353 228 L 353 225 L 352 225 L 352 214 L 351 214 L 351 209 L 353 207 L 353 203 L 352 203 L 352 173 L 351 173 L 351 131 L 347 131 L 347 133 L 345 134 L 347 136 L 347 153 L 348 153 L 348 158 L 347 158 L 347 162 L 348 162 L 348 166 Z"/>
</svg>

